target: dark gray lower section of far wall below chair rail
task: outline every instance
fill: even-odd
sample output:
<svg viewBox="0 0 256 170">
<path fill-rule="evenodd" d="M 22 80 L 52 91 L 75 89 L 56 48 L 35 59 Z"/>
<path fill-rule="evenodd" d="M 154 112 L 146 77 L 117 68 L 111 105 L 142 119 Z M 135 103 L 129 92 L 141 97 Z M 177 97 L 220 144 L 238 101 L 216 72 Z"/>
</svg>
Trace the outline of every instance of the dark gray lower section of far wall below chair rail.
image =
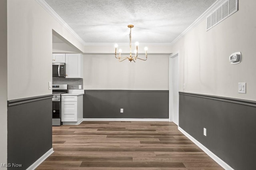
<svg viewBox="0 0 256 170">
<path fill-rule="evenodd" d="M 168 119 L 169 92 L 85 90 L 84 118 Z M 120 113 L 120 109 L 124 113 Z"/>
</svg>

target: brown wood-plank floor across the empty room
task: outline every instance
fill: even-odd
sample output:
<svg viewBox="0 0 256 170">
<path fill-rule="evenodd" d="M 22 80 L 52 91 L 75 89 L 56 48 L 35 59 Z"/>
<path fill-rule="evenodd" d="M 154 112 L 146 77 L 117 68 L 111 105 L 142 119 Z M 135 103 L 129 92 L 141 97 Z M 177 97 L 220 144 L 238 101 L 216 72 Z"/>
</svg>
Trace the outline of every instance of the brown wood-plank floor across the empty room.
<svg viewBox="0 0 256 170">
<path fill-rule="evenodd" d="M 222 170 L 169 122 L 52 127 L 54 153 L 37 170 Z"/>
</svg>

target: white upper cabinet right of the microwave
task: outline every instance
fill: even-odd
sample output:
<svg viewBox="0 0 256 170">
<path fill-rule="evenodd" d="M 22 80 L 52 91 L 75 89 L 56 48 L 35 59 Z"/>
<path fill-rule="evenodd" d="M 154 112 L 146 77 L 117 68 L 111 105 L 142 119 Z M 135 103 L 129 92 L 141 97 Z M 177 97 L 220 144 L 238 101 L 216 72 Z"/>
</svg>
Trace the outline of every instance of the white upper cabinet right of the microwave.
<svg viewBox="0 0 256 170">
<path fill-rule="evenodd" d="M 82 54 L 66 54 L 66 78 L 83 78 Z"/>
</svg>

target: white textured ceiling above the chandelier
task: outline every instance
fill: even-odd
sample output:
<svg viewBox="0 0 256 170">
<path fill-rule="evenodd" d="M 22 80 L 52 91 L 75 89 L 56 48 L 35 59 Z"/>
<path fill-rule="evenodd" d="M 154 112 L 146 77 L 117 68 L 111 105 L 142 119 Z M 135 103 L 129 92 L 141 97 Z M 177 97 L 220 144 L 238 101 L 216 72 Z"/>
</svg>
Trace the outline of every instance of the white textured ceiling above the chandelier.
<svg viewBox="0 0 256 170">
<path fill-rule="evenodd" d="M 216 0 L 45 0 L 86 43 L 171 43 Z"/>
</svg>

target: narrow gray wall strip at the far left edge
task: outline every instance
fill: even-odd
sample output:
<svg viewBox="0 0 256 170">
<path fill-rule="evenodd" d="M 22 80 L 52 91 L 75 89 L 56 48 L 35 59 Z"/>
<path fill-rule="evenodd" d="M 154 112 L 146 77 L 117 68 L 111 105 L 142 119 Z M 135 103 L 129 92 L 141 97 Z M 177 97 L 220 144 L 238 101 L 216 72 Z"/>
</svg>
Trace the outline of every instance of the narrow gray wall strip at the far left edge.
<svg viewBox="0 0 256 170">
<path fill-rule="evenodd" d="M 0 25 L 0 163 L 7 163 L 7 0 L 0 1 Z"/>
</svg>

